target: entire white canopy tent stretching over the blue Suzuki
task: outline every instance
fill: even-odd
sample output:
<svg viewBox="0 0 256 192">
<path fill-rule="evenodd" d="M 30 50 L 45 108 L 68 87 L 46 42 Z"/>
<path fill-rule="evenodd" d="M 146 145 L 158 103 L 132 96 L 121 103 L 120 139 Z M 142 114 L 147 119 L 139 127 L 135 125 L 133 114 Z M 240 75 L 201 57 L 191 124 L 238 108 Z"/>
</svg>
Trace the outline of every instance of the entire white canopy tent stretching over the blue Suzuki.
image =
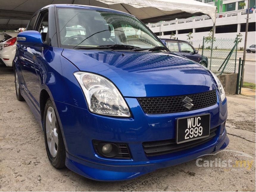
<svg viewBox="0 0 256 192">
<path fill-rule="evenodd" d="M 0 29 L 25 27 L 32 14 L 49 4 L 82 4 L 135 15 L 144 23 L 209 15 L 216 21 L 216 7 L 194 0 L 0 0 Z"/>
</svg>

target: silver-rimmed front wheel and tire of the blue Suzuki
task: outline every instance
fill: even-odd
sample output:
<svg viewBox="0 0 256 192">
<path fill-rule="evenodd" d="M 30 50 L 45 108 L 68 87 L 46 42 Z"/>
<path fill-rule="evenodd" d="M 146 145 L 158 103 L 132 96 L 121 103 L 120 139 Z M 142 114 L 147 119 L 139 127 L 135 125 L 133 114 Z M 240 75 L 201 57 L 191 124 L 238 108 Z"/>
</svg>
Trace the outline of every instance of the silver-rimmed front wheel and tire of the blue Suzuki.
<svg viewBox="0 0 256 192">
<path fill-rule="evenodd" d="M 65 167 L 66 150 L 60 130 L 58 118 L 51 99 L 44 108 L 44 141 L 49 161 L 55 168 Z"/>
</svg>

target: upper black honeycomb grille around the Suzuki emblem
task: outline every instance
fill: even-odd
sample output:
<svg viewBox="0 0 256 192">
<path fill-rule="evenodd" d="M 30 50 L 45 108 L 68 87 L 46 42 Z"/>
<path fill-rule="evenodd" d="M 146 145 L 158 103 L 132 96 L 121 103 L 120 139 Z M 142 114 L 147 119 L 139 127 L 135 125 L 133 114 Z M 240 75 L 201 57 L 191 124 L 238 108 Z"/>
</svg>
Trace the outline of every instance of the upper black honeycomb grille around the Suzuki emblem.
<svg viewBox="0 0 256 192">
<path fill-rule="evenodd" d="M 193 101 L 194 106 L 191 110 L 202 109 L 210 107 L 217 103 L 216 90 L 207 91 L 204 93 L 197 93 L 191 95 L 179 95 L 170 97 L 145 97 L 138 98 L 142 109 L 147 114 L 165 114 L 189 111 L 183 105 L 182 100 L 188 96 Z"/>
</svg>

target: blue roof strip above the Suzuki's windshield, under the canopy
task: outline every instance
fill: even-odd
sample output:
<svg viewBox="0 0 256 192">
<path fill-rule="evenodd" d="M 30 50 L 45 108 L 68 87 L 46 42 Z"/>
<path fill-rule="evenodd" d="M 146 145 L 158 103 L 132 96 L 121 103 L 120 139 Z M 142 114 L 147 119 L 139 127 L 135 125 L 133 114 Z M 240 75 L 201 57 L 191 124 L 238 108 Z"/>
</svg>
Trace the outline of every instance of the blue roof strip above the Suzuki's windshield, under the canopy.
<svg viewBox="0 0 256 192">
<path fill-rule="evenodd" d="M 88 9 L 88 10 L 98 10 L 98 11 L 109 11 L 109 12 L 122 13 L 122 14 L 133 16 L 129 13 L 125 13 L 125 12 L 117 11 L 117 10 L 113 10 L 113 9 L 108 9 L 108 8 L 104 8 L 104 7 L 96 7 L 96 6 L 89 6 L 89 5 L 76 5 L 76 4 L 50 4 L 50 5 L 47 5 L 43 8 L 41 8 L 40 10 L 43 10 L 45 8 L 48 8 L 48 7 L 61 7 L 61 8 L 76 8 L 76 9 Z"/>
</svg>

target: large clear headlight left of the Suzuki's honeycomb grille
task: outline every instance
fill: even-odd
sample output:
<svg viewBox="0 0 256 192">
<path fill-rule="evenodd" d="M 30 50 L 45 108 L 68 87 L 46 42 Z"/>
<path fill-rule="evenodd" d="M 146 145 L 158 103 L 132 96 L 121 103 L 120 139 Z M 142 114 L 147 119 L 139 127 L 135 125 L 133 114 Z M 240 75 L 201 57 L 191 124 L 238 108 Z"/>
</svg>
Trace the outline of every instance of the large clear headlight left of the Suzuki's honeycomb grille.
<svg viewBox="0 0 256 192">
<path fill-rule="evenodd" d="M 131 116 L 123 96 L 108 79 L 87 72 L 75 72 L 74 76 L 82 87 L 91 112 L 110 116 Z"/>
</svg>

